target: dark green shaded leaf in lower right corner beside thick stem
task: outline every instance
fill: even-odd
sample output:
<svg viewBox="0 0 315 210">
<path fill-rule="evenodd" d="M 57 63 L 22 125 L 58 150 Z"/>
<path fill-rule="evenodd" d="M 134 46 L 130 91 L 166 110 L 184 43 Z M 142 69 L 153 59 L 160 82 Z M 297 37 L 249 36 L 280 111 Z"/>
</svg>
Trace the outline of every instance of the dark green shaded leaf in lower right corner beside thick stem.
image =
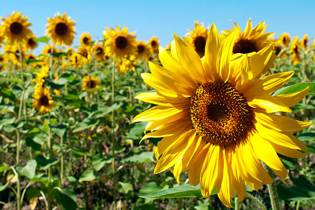
<svg viewBox="0 0 315 210">
<path fill-rule="evenodd" d="M 292 176 L 290 178 L 295 186 L 286 188 L 277 185 L 279 199 L 299 201 L 315 198 L 315 186 L 306 177 L 301 175 L 296 179 Z"/>
</svg>

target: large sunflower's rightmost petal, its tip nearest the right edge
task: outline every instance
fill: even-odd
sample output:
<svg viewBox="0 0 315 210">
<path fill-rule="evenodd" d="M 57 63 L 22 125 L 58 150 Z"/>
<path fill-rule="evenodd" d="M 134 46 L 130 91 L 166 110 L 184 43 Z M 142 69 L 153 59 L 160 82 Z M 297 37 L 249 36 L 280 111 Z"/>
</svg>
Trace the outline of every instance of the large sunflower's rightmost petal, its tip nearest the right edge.
<svg viewBox="0 0 315 210">
<path fill-rule="evenodd" d="M 261 112 L 255 112 L 255 118 L 260 124 L 276 131 L 300 131 L 312 124 L 312 122 L 303 122 L 282 115 Z"/>
</svg>

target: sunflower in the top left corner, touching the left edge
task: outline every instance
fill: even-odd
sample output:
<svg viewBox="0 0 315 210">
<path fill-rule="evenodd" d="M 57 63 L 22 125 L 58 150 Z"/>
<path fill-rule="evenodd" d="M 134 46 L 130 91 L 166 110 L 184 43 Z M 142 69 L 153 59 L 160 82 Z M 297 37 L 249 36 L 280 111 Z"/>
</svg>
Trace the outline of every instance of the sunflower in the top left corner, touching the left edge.
<svg viewBox="0 0 315 210">
<path fill-rule="evenodd" d="M 7 16 L 8 19 L 1 17 L 5 39 L 10 43 L 26 40 L 27 36 L 32 33 L 28 29 L 32 24 L 27 22 L 28 18 L 26 18 L 26 15 L 22 16 L 21 12 L 13 11 L 12 16 L 9 14 Z"/>
</svg>

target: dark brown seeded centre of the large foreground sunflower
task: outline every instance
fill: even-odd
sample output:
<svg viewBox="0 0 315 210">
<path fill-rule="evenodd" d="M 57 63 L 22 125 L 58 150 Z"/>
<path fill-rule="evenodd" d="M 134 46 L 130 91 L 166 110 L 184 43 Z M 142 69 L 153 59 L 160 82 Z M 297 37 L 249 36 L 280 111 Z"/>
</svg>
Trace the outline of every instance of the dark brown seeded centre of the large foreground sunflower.
<svg viewBox="0 0 315 210">
<path fill-rule="evenodd" d="M 190 118 L 207 142 L 228 146 L 247 135 L 252 109 L 230 83 L 206 82 L 191 97 Z"/>
</svg>

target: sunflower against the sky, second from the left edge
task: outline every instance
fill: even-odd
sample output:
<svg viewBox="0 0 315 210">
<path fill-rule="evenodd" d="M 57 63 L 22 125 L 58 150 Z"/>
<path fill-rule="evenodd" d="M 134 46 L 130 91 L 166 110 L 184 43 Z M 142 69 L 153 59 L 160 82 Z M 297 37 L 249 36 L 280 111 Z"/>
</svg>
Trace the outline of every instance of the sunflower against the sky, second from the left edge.
<svg viewBox="0 0 315 210">
<path fill-rule="evenodd" d="M 46 34 L 48 38 L 51 37 L 54 44 L 72 44 L 74 33 L 76 33 L 74 29 L 76 23 L 71 21 L 70 17 L 67 17 L 67 13 L 64 13 L 62 16 L 60 13 L 57 13 L 57 15 L 55 14 L 55 18 L 48 17 L 47 22 Z"/>
</svg>

